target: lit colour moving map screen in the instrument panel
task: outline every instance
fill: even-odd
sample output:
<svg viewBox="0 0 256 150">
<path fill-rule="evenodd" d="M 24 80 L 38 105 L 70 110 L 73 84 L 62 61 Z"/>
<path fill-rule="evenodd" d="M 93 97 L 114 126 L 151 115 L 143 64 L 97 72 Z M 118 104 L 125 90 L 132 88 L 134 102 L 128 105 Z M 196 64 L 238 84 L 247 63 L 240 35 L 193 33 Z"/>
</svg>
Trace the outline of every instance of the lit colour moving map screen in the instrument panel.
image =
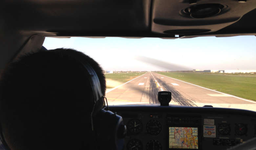
<svg viewBox="0 0 256 150">
<path fill-rule="evenodd" d="M 198 128 L 169 127 L 169 148 L 198 149 Z"/>
</svg>

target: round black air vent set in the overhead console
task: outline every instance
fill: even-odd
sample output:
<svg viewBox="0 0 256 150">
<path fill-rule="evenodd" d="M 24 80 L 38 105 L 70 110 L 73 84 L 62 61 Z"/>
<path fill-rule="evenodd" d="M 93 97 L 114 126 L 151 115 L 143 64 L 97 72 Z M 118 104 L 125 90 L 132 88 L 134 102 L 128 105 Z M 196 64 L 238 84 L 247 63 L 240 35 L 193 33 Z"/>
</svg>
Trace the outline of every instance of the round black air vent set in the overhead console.
<svg viewBox="0 0 256 150">
<path fill-rule="evenodd" d="M 192 18 L 207 18 L 219 14 L 226 7 L 221 4 L 200 4 L 185 8 L 182 13 Z"/>
</svg>

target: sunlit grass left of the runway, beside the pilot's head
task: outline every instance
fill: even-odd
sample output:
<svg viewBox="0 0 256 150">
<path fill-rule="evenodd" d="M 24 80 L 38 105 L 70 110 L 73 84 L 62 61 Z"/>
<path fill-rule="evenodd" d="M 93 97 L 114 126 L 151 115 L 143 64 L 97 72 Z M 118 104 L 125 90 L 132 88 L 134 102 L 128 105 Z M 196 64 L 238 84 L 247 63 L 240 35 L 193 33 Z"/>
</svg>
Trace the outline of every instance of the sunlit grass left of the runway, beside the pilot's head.
<svg viewBox="0 0 256 150">
<path fill-rule="evenodd" d="M 126 83 L 127 81 L 130 81 L 142 74 L 144 74 L 145 72 L 139 72 L 139 73 L 109 73 L 109 74 L 105 74 L 106 80 L 111 80 L 111 81 L 115 81 L 118 83 Z M 107 88 L 113 88 L 113 84 L 108 84 L 107 82 Z"/>
</svg>

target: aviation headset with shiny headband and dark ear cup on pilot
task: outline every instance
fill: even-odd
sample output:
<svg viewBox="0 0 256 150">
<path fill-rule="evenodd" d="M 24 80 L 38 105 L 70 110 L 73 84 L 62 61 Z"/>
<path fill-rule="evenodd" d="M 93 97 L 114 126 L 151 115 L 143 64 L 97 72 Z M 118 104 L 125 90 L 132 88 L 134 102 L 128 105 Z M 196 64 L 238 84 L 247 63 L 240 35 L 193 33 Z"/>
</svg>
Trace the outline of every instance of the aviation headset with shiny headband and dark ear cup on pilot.
<svg viewBox="0 0 256 150">
<path fill-rule="evenodd" d="M 69 55 L 72 56 L 72 54 Z M 91 113 L 92 136 L 94 137 L 94 144 L 91 145 L 90 149 L 123 149 L 126 126 L 123 124 L 122 117 L 109 111 L 109 109 L 108 111 L 104 110 L 103 107 L 105 106 L 105 97 L 102 94 L 100 82 L 95 70 L 86 62 L 85 59 L 79 59 L 77 57 L 74 58 L 85 68 L 84 70 L 88 75 L 94 97 L 94 106 Z M 3 136 L 1 123 L 0 150 L 10 150 Z"/>
</svg>

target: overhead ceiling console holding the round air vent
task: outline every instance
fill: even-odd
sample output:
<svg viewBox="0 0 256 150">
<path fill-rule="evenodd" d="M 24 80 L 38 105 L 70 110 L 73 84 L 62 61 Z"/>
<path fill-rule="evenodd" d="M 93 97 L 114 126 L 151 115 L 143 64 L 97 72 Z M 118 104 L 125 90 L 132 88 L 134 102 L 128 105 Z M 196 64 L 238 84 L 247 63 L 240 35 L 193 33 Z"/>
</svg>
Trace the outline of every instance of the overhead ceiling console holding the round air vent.
<svg viewBox="0 0 256 150">
<path fill-rule="evenodd" d="M 153 0 L 152 32 L 195 35 L 218 31 L 256 8 L 252 0 Z"/>
</svg>

